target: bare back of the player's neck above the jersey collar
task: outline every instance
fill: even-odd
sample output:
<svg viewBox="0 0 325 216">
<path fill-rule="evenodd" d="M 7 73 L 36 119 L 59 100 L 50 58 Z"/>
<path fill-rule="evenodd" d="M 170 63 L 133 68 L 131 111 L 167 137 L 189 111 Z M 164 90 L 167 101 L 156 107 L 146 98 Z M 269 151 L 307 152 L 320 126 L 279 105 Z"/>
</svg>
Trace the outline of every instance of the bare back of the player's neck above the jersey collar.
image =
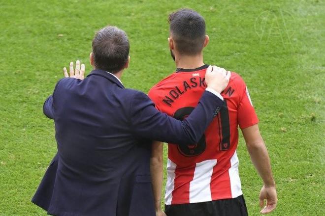
<svg viewBox="0 0 325 216">
<path fill-rule="evenodd" d="M 176 55 L 175 62 L 177 68 L 184 68 L 184 69 L 193 69 L 198 68 L 204 65 L 203 63 L 203 55 L 198 54 L 194 56 L 190 55 Z"/>
</svg>

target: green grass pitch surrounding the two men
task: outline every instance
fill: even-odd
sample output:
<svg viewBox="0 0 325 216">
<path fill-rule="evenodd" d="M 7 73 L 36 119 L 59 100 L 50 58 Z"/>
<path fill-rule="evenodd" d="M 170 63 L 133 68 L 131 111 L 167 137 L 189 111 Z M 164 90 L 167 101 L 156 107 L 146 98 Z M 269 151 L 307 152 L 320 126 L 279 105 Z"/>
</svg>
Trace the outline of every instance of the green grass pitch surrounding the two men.
<svg viewBox="0 0 325 216">
<path fill-rule="evenodd" d="M 269 150 L 279 203 L 272 216 L 325 215 L 324 0 L 0 0 L 0 216 L 46 215 L 31 203 L 56 152 L 44 99 L 71 60 L 86 63 L 96 30 L 130 39 L 126 87 L 147 92 L 174 69 L 167 17 L 181 7 L 206 19 L 205 62 L 246 81 Z M 262 182 L 240 137 L 249 214 Z M 164 151 L 166 153 L 166 151 Z"/>
</svg>

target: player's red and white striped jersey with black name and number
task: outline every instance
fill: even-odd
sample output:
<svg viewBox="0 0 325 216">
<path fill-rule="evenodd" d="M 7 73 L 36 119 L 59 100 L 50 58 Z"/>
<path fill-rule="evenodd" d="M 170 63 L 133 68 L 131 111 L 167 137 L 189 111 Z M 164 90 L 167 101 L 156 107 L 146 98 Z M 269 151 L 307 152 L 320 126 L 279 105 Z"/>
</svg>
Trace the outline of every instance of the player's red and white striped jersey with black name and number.
<svg viewBox="0 0 325 216">
<path fill-rule="evenodd" d="M 177 69 L 149 91 L 156 107 L 177 119 L 186 118 L 206 88 L 208 65 Z M 224 106 L 195 145 L 168 143 L 165 204 L 207 202 L 242 194 L 238 173 L 238 125 L 255 125 L 258 118 L 242 78 L 231 72 L 221 94 Z"/>
</svg>

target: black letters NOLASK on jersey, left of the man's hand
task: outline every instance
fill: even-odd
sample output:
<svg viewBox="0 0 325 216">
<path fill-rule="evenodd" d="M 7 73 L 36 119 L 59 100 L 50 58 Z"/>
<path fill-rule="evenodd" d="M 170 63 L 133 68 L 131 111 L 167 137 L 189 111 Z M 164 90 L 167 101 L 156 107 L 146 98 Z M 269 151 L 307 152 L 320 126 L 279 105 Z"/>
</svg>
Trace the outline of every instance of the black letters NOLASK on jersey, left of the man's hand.
<svg viewBox="0 0 325 216">
<path fill-rule="evenodd" d="M 173 89 L 171 89 L 167 95 L 162 99 L 162 102 L 169 107 L 171 107 L 172 103 L 174 103 L 175 100 L 177 100 L 182 94 L 187 92 L 188 90 L 191 90 L 192 88 L 196 87 L 207 87 L 205 83 L 205 78 L 195 78 L 192 77 L 188 81 L 183 81 L 181 86 L 175 86 Z"/>
</svg>

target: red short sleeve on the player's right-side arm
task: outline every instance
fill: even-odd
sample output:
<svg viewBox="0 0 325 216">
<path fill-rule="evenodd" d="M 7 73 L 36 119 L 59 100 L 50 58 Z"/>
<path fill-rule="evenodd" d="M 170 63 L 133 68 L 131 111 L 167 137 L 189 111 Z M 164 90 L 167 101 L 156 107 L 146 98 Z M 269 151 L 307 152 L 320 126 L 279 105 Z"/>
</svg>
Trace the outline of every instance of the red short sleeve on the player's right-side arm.
<svg viewBox="0 0 325 216">
<path fill-rule="evenodd" d="M 244 81 L 241 86 L 241 91 L 242 96 L 238 106 L 237 117 L 239 127 L 241 129 L 244 129 L 259 123 L 259 119 L 253 107 L 251 97 Z"/>
</svg>

